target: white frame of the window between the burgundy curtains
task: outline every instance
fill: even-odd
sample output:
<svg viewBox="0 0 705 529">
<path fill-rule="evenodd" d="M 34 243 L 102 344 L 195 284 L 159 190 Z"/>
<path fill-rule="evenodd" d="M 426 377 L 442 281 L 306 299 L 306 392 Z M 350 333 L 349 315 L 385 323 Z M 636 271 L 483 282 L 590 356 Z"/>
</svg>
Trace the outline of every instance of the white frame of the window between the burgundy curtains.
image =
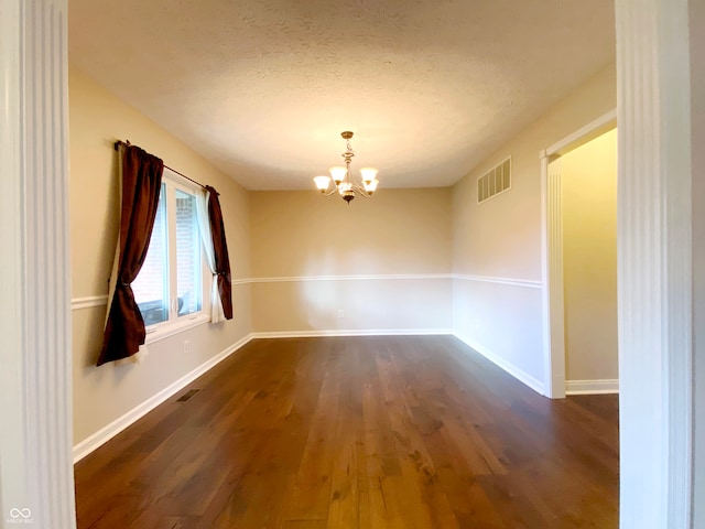
<svg viewBox="0 0 705 529">
<path fill-rule="evenodd" d="M 154 323 L 145 327 L 147 338 L 145 345 L 159 342 L 169 336 L 183 333 L 189 328 L 203 325 L 210 321 L 210 314 L 206 307 L 210 306 L 210 270 L 206 262 L 203 242 L 200 244 L 200 310 L 187 315 L 178 316 L 174 306 L 176 304 L 176 190 L 185 193 L 197 195 L 203 190 L 197 184 L 184 179 L 178 173 L 164 168 L 162 174 L 162 183 L 166 191 L 166 237 L 167 237 L 167 257 L 169 257 L 169 319 L 165 322 Z M 200 238 L 200 234 L 199 234 Z"/>
</svg>

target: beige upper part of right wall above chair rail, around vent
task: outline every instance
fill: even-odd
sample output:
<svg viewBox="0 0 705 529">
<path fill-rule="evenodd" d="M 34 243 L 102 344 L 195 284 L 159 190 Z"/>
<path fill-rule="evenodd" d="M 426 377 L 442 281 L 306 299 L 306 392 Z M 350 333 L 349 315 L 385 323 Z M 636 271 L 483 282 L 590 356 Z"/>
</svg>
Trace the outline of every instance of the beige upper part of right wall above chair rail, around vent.
<svg viewBox="0 0 705 529">
<path fill-rule="evenodd" d="M 616 106 L 614 65 L 588 79 L 453 187 L 453 270 L 541 279 L 539 152 Z M 477 177 L 512 158 L 511 191 L 477 204 Z"/>
</svg>

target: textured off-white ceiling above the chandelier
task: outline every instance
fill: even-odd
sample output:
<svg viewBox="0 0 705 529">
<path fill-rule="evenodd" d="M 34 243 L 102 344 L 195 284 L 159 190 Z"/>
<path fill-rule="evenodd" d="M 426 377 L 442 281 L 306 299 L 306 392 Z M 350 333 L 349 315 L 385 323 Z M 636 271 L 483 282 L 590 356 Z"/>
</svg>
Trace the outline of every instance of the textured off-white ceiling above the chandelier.
<svg viewBox="0 0 705 529">
<path fill-rule="evenodd" d="M 380 187 L 451 185 L 614 53 L 611 0 L 69 1 L 70 62 L 250 190 L 343 130 Z"/>
</svg>

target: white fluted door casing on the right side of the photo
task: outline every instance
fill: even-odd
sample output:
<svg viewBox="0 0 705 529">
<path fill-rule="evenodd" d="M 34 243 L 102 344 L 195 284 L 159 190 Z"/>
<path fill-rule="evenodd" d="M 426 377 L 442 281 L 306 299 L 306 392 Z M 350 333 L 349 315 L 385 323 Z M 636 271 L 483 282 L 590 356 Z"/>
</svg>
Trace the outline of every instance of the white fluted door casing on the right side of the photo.
<svg viewBox="0 0 705 529">
<path fill-rule="evenodd" d="M 690 526 L 687 0 L 617 0 L 620 527 Z"/>
</svg>

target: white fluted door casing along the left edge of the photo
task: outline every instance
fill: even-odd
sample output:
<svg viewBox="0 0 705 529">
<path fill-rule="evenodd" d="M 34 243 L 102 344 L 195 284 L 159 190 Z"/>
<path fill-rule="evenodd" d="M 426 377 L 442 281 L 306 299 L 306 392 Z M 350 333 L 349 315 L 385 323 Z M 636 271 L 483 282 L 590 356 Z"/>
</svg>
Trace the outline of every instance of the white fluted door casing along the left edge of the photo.
<svg viewBox="0 0 705 529">
<path fill-rule="evenodd" d="M 75 527 L 67 9 L 0 0 L 0 527 Z"/>
</svg>

